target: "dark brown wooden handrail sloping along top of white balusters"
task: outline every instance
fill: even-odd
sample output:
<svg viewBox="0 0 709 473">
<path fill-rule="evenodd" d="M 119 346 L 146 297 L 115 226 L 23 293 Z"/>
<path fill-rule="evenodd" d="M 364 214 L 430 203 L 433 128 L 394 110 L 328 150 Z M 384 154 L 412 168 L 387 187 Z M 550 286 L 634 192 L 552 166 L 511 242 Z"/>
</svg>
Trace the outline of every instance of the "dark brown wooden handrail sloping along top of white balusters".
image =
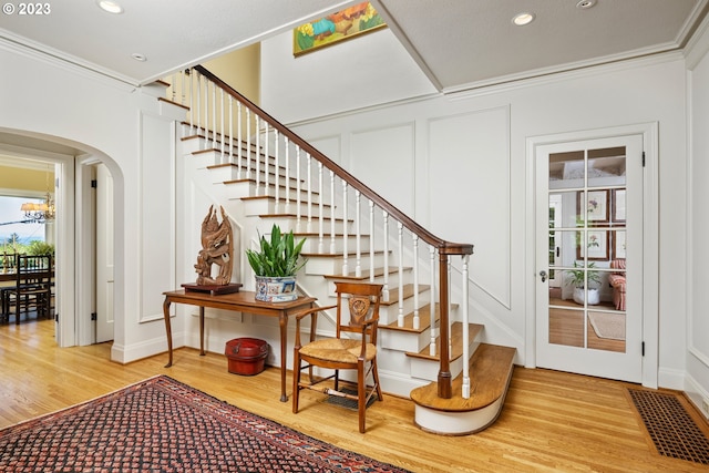
<svg viewBox="0 0 709 473">
<path fill-rule="evenodd" d="M 446 241 L 442 238 L 436 237 L 432 233 L 430 233 L 428 229 L 425 229 L 424 227 L 419 225 L 417 222 L 414 222 L 412 218 L 410 218 L 407 214 L 404 214 L 403 212 L 401 212 L 400 209 L 391 205 L 387 199 L 384 199 L 382 196 L 380 196 L 374 191 L 372 191 L 367 185 L 364 185 L 357 177 L 352 176 L 350 173 L 345 171 L 336 162 L 327 157 L 325 154 L 320 153 L 316 147 L 314 147 L 307 141 L 298 136 L 290 128 L 286 127 L 279 121 L 277 121 L 276 119 L 270 116 L 268 113 L 263 111 L 254 102 L 251 102 L 250 100 L 248 100 L 247 97 L 238 93 L 236 90 L 234 90 L 229 84 L 225 83 L 219 78 L 214 75 L 203 65 L 196 65 L 194 69 L 197 70 L 202 75 L 204 75 L 205 78 L 207 78 L 208 80 L 210 80 L 212 82 L 214 82 L 215 84 L 224 89 L 227 93 L 229 93 L 232 96 L 237 99 L 239 102 L 246 104 L 254 113 L 259 115 L 261 119 L 266 120 L 274 128 L 278 130 L 281 134 L 288 136 L 288 138 L 291 142 L 297 144 L 301 150 L 305 150 L 307 153 L 314 156 L 317 161 L 326 165 L 328 169 L 332 171 L 342 181 L 347 182 L 349 185 L 351 185 L 353 188 L 359 191 L 367 198 L 369 198 L 370 200 L 376 203 L 379 207 L 381 207 L 383 210 L 386 210 L 389 215 L 391 215 L 392 217 L 401 222 L 401 224 L 404 227 L 407 227 L 410 232 L 417 234 L 419 238 L 423 239 L 429 245 L 438 248 L 439 251 L 441 251 L 441 254 L 444 254 L 444 255 L 472 255 L 473 254 L 473 245 L 471 244 Z"/>
</svg>

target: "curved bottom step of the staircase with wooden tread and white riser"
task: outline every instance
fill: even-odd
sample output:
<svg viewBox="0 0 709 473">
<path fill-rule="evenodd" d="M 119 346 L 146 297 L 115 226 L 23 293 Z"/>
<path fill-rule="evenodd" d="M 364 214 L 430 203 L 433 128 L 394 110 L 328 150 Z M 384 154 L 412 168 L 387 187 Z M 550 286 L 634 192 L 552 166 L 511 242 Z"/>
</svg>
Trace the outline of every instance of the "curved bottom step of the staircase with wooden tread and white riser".
<svg viewBox="0 0 709 473">
<path fill-rule="evenodd" d="M 414 423 L 441 435 L 467 435 L 490 426 L 502 411 L 512 373 L 515 349 L 481 343 L 470 360 L 471 397 L 461 395 L 462 374 L 452 381 L 453 397 L 438 397 L 438 383 L 411 391 Z"/>
</svg>

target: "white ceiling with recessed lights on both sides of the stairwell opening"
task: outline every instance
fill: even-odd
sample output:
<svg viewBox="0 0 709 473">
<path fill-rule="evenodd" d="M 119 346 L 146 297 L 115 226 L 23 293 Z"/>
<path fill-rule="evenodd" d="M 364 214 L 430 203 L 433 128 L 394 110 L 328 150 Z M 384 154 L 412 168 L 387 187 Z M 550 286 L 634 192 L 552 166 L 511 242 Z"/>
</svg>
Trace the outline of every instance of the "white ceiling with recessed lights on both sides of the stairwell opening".
<svg viewBox="0 0 709 473">
<path fill-rule="evenodd" d="M 121 14 L 95 0 L 48 2 L 49 14 L 31 18 L 0 14 L 0 38 L 137 85 L 357 3 L 117 1 Z M 597 0 L 580 9 L 578 0 L 372 0 L 443 92 L 681 49 L 708 2 Z M 514 27 L 521 11 L 535 21 Z"/>
</svg>

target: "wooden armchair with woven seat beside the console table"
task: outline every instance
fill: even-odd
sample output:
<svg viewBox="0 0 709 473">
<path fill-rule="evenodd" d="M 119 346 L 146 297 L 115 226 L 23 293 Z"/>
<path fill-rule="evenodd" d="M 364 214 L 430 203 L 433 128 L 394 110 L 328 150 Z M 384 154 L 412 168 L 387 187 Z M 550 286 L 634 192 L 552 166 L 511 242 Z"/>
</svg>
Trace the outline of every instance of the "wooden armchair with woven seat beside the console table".
<svg viewBox="0 0 709 473">
<path fill-rule="evenodd" d="M 294 349 L 292 412 L 298 413 L 299 393 L 312 389 L 329 395 L 357 401 L 359 431 L 364 433 L 364 412 L 370 398 L 377 394 L 381 401 L 381 387 L 377 372 L 377 328 L 382 285 L 359 282 L 336 282 L 337 305 L 316 307 L 296 313 L 296 343 Z M 321 310 L 337 308 L 337 331 L 335 338 L 316 340 L 317 315 Z M 345 313 L 349 309 L 349 318 Z M 300 343 L 300 322 L 310 316 L 310 339 Z M 345 333 L 348 333 L 345 336 Z M 357 333 L 357 337 L 352 337 Z M 307 363 L 307 364 L 304 364 Z M 331 369 L 327 377 L 315 377 L 312 368 Z M 308 380 L 301 379 L 308 369 Z M 340 391 L 340 370 L 357 370 L 357 395 Z M 371 374 L 373 384 L 367 385 Z M 333 384 L 322 384 L 333 380 Z M 333 388 L 331 388 L 333 385 Z"/>
</svg>

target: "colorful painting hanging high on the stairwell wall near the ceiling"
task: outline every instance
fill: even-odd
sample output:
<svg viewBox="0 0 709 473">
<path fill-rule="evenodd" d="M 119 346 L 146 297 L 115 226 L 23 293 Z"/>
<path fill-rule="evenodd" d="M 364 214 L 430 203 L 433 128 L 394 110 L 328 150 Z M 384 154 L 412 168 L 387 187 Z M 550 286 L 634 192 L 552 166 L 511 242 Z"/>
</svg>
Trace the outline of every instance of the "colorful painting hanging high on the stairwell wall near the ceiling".
<svg viewBox="0 0 709 473">
<path fill-rule="evenodd" d="M 296 28 L 292 53 L 305 54 L 384 27 L 387 23 L 368 1 L 358 3 Z"/>
</svg>

